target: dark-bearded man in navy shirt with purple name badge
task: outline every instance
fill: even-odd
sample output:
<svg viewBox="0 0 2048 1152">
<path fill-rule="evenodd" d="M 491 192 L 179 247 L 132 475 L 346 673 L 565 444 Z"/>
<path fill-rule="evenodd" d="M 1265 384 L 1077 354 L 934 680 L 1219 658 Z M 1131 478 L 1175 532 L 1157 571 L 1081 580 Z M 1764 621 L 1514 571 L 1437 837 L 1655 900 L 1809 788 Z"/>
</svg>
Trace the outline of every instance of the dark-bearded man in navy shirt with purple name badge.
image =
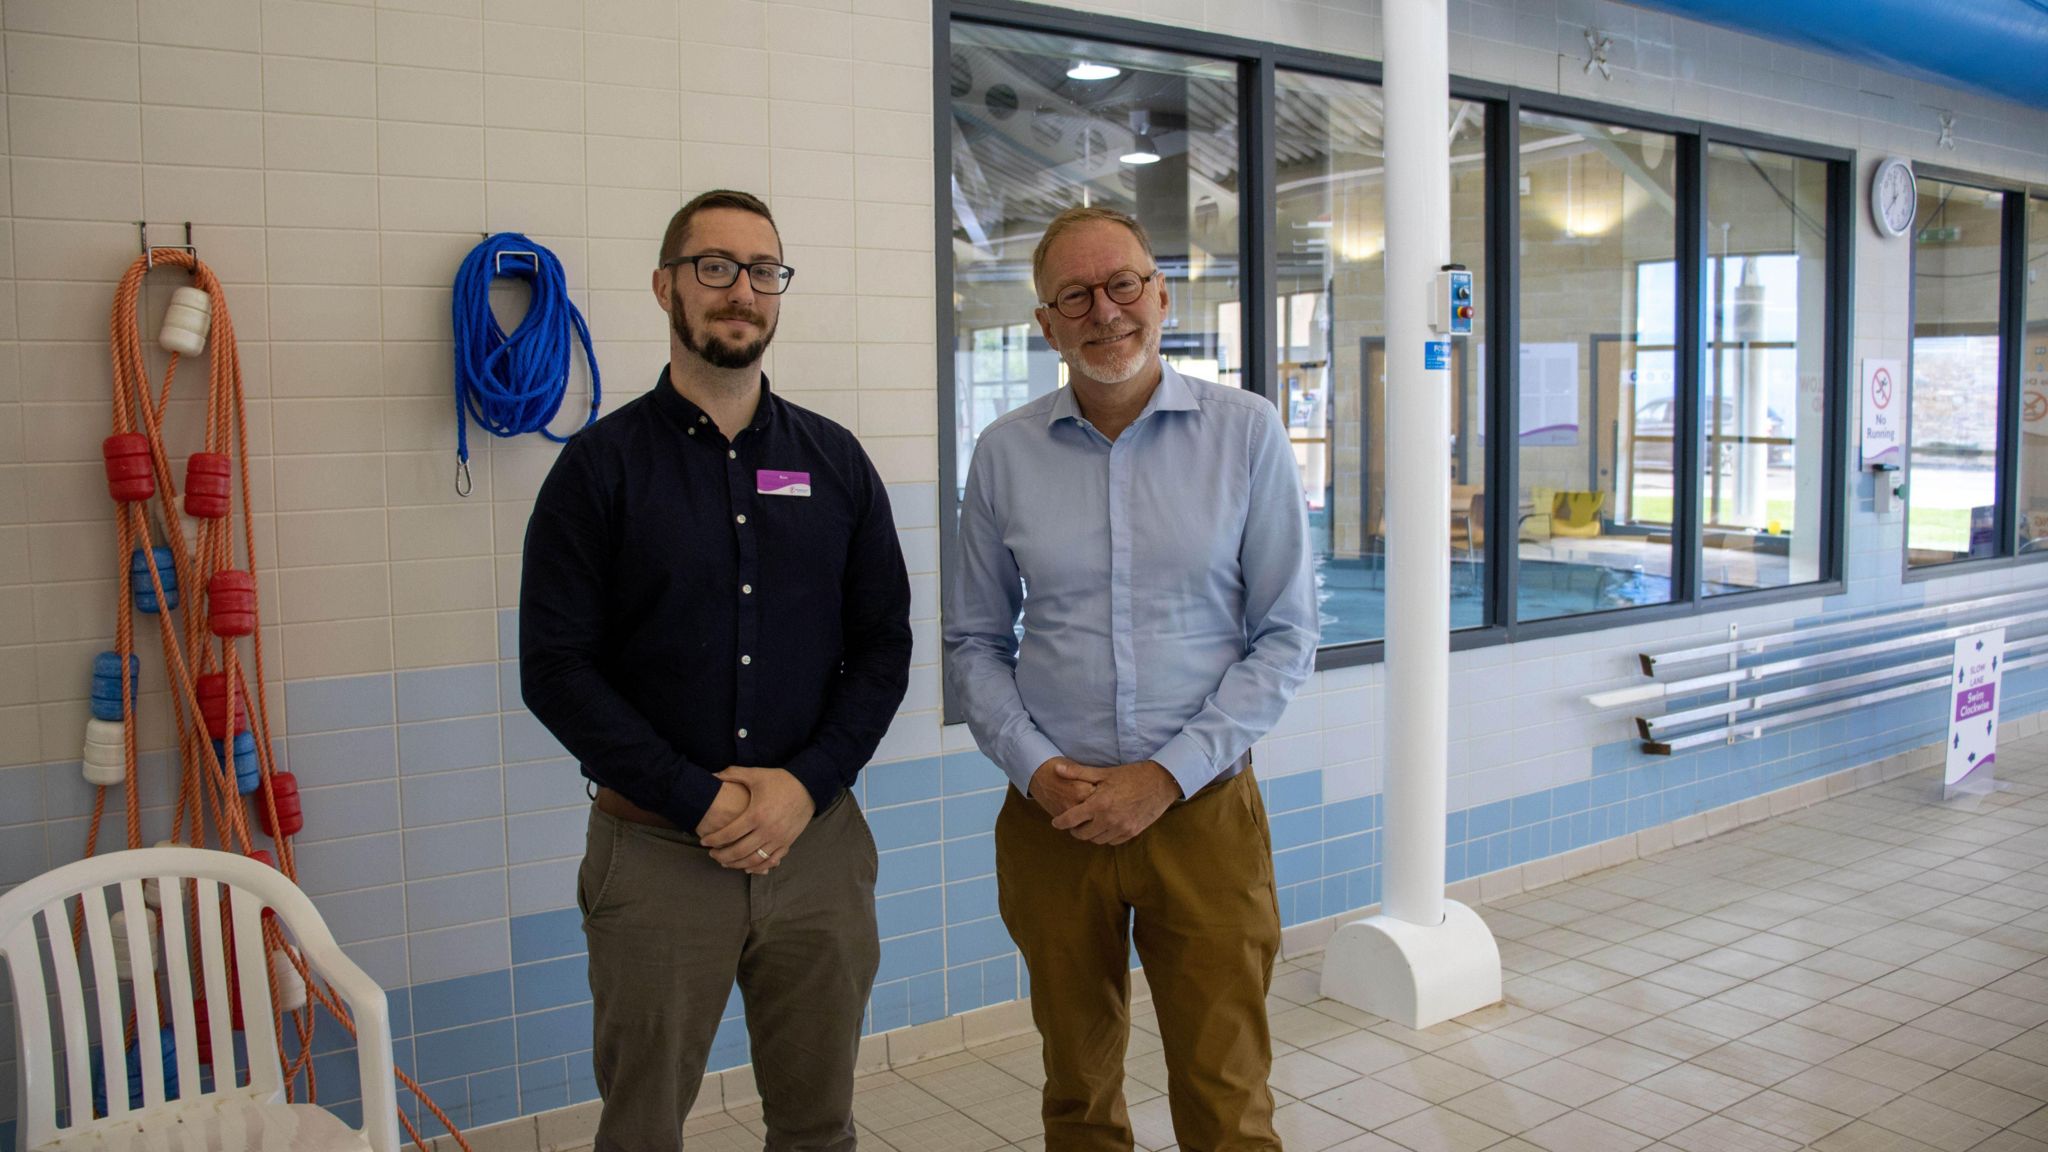
<svg viewBox="0 0 2048 1152">
<path fill-rule="evenodd" d="M 909 580 L 860 443 L 762 375 L 793 275 L 756 197 L 684 205 L 668 369 L 569 441 L 526 527 L 520 687 L 596 783 L 600 1152 L 682 1148 L 735 978 L 768 1148 L 854 1148 L 881 947 L 848 785 L 909 683 Z"/>
</svg>

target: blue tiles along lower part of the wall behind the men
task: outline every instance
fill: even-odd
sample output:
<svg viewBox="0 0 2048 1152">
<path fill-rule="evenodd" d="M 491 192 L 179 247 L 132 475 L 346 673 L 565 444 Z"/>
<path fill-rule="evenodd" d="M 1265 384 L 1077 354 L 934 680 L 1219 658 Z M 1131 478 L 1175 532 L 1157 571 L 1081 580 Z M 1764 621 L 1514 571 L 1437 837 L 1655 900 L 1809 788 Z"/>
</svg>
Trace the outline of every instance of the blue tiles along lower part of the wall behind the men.
<svg viewBox="0 0 2048 1152">
<path fill-rule="evenodd" d="M 311 799 L 340 804 L 399 785 L 403 830 L 385 830 L 387 820 L 377 812 L 365 810 L 356 822 L 334 812 L 324 818 L 340 838 L 307 840 L 301 861 L 309 890 L 330 908 L 352 951 L 393 951 L 397 972 L 410 963 L 422 976 L 389 992 L 395 1060 L 418 1072 L 463 1125 L 596 1095 L 580 914 L 573 908 L 508 914 L 504 904 L 506 890 L 524 875 L 512 865 L 526 857 L 535 863 L 520 867 L 541 869 L 526 888 L 547 881 L 561 888 L 559 900 L 571 898 L 573 857 L 582 849 L 582 777 L 559 754 L 520 760 L 545 752 L 547 740 L 522 728 L 532 724 L 528 715 L 496 711 L 504 674 L 504 664 L 475 664 L 287 687 L 289 750 L 313 777 Z M 1587 779 L 1448 812 L 1446 879 L 1597 845 L 1935 742 L 1939 697 L 1935 691 L 1903 701 L 1876 732 L 1868 722 L 1851 730 L 1847 719 L 1825 719 L 1679 756 L 1649 756 L 1634 740 L 1593 748 Z M 2007 678 L 2005 719 L 2044 707 L 2048 668 Z M 442 740 L 446 732 L 465 736 Z M 514 740 L 512 732 L 520 736 Z M 479 769 L 455 767 L 481 754 L 479 748 L 496 758 L 483 754 L 487 763 Z M 494 769 L 504 771 L 496 787 L 487 779 Z M 14 781 L 47 808 L 49 781 L 74 777 L 76 765 L 33 765 L 16 771 Z M 365 791 L 369 781 L 387 783 Z M 444 793 L 436 795 L 436 787 Z M 1282 922 L 1290 927 L 1380 900 L 1380 797 L 1329 799 L 1325 787 L 1323 771 L 1260 779 Z M 979 752 L 877 765 L 864 773 L 862 795 L 881 847 L 883 937 L 866 1031 L 1028 994 L 1028 972 L 997 914 L 991 830 L 1008 781 L 995 765 Z M 420 818 L 436 816 L 453 822 L 422 826 Z M 12 828 L 43 832 L 33 822 Z M 512 853 L 508 840 L 516 842 Z M 401 861 L 412 879 L 399 875 Z M 319 877 L 342 875 L 350 888 L 319 888 Z M 358 900 L 365 894 L 373 898 Z M 467 910 L 479 918 L 461 922 Z M 455 976 L 424 980 L 430 972 Z M 735 992 L 713 1043 L 713 1070 L 750 1058 L 739 1009 Z M 328 1107 L 352 1115 L 358 1107 L 352 1039 L 324 1023 L 313 1050 Z"/>
</svg>

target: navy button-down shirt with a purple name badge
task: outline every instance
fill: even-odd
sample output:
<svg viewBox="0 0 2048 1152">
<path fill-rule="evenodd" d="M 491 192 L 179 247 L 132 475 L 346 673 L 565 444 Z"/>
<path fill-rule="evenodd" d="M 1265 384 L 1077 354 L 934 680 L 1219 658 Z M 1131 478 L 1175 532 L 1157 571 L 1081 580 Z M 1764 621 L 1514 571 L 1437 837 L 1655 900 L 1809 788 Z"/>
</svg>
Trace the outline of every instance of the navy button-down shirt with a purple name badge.
<svg viewBox="0 0 2048 1152">
<path fill-rule="evenodd" d="M 909 685 L 909 578 L 852 433 L 768 389 L 733 441 L 670 385 L 578 433 L 526 525 L 520 689 L 584 775 L 696 828 L 729 765 L 819 812 Z"/>
</svg>

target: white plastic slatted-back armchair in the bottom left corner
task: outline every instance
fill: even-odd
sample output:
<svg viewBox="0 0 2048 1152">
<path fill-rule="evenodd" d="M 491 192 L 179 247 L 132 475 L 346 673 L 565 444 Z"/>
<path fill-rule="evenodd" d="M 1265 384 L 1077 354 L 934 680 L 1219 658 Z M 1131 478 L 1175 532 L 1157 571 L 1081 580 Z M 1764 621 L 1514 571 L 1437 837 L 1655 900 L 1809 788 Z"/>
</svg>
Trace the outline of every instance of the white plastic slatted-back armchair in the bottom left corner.
<svg viewBox="0 0 2048 1152">
<path fill-rule="evenodd" d="M 156 912 L 162 935 L 150 924 L 143 881 L 162 892 Z M 176 1035 L 178 1097 L 166 1099 L 160 1033 L 137 1025 L 141 1107 L 131 1107 L 125 1025 L 158 1021 L 158 982 L 121 976 L 106 888 L 119 892 L 119 912 L 135 924 L 127 933 L 127 970 L 164 972 L 164 996 Z M 221 890 L 233 924 L 242 998 L 246 1064 L 238 1072 L 227 961 L 221 933 Z M 186 949 L 186 898 L 199 912 L 199 951 L 213 1047 L 213 1082 L 199 1076 L 195 974 Z M 76 900 L 76 904 L 74 904 Z M 84 906 L 84 957 L 72 945 L 72 910 Z M 326 980 L 348 1004 L 356 1027 L 356 1068 L 362 1080 L 362 1127 L 348 1127 L 319 1105 L 285 1103 L 285 1076 L 270 1015 L 270 963 L 264 953 L 262 910 L 272 908 L 305 957 L 307 970 Z M 41 929 L 41 931 L 39 931 Z M 41 939 L 39 939 L 41 937 Z M 41 943 L 47 941 L 47 947 Z M 84 859 L 43 873 L 0 896 L 0 953 L 14 982 L 18 1033 L 16 1097 L 18 1152 L 397 1152 L 397 1101 L 391 1086 L 391 1019 L 383 990 L 369 978 L 319 918 L 313 902 L 264 863 L 205 849 L 137 849 Z M 90 988 L 80 972 L 90 963 Z M 51 1035 L 51 984 L 63 1052 Z M 123 988 L 127 1000 L 123 1002 Z M 92 1011 L 88 1015 L 88 998 Z M 96 1025 L 94 1025 L 96 1021 Z M 96 1035 L 94 1035 L 96 1027 Z M 104 1115 L 92 1101 L 92 1043 L 104 1084 Z M 57 1123 L 57 1078 L 66 1076 L 68 1117 Z"/>
</svg>

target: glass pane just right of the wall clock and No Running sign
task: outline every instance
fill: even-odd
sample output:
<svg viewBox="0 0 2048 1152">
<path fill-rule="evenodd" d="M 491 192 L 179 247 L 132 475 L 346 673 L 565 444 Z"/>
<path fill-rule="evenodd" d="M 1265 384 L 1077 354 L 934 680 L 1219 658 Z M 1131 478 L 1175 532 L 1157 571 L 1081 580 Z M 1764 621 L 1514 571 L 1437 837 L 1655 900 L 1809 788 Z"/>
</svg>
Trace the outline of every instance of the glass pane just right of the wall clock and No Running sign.
<svg viewBox="0 0 2048 1152">
<path fill-rule="evenodd" d="M 2005 193 L 1919 180 L 1907 564 L 1999 556 Z"/>
</svg>

